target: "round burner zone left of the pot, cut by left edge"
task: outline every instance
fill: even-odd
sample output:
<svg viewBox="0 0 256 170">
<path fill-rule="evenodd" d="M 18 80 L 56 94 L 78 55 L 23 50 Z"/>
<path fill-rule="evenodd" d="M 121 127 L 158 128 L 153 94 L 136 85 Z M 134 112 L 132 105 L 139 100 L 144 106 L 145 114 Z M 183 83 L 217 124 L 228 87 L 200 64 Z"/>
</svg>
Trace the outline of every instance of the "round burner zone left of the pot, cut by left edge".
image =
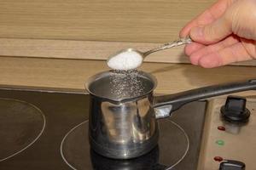
<svg viewBox="0 0 256 170">
<path fill-rule="evenodd" d="M 0 98 L 0 108 L 1 162 L 34 144 L 44 132 L 46 120 L 38 107 L 19 99 Z"/>
</svg>

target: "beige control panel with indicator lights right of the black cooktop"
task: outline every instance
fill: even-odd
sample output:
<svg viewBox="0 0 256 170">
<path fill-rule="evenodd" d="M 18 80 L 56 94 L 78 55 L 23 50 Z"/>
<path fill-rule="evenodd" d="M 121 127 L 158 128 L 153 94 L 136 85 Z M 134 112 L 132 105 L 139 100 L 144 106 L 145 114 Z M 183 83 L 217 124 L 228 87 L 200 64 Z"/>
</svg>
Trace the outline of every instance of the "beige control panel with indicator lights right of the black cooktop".
<svg viewBox="0 0 256 170">
<path fill-rule="evenodd" d="M 220 162 L 214 161 L 214 157 L 220 156 L 224 160 L 242 161 L 247 170 L 256 170 L 256 99 L 247 99 L 251 116 L 241 126 L 221 119 L 220 108 L 225 100 L 212 99 L 208 104 L 198 169 L 218 170 Z M 225 130 L 221 130 L 223 127 Z"/>
</svg>

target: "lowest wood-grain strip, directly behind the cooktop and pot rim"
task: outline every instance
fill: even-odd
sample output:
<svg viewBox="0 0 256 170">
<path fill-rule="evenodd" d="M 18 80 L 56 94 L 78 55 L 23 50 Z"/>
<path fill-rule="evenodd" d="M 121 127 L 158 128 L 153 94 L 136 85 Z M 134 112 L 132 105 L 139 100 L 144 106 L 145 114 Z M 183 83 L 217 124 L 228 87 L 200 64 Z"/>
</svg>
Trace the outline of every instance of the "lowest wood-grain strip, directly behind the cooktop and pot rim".
<svg viewBox="0 0 256 170">
<path fill-rule="evenodd" d="M 156 92 L 159 94 L 253 79 L 256 72 L 256 67 L 202 69 L 194 65 L 154 63 L 145 63 L 140 69 L 158 79 Z M 96 60 L 0 57 L 0 84 L 84 89 L 88 77 L 106 70 L 108 67 L 105 62 Z"/>
</svg>

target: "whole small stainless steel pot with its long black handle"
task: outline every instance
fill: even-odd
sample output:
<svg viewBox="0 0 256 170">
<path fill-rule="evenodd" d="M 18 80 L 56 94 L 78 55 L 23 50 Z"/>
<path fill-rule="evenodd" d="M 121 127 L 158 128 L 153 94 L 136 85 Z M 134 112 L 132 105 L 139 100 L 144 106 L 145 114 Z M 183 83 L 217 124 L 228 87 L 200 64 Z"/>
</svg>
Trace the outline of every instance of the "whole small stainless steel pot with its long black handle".
<svg viewBox="0 0 256 170">
<path fill-rule="evenodd" d="M 154 96 L 156 79 L 143 71 L 132 74 L 105 71 L 86 82 L 90 93 L 90 146 L 102 156 L 142 156 L 158 143 L 157 119 L 171 116 L 195 100 L 256 89 L 256 80 L 250 80 Z"/>
</svg>

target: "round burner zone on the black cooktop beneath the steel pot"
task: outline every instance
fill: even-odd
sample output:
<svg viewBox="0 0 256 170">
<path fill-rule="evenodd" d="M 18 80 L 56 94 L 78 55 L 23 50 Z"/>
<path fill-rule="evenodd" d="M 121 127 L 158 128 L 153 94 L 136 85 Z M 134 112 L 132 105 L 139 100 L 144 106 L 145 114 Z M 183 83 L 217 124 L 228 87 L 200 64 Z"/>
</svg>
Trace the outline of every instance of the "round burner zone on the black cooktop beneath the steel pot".
<svg viewBox="0 0 256 170">
<path fill-rule="evenodd" d="M 157 154 L 156 151 L 153 151 L 150 154 L 131 160 L 114 160 L 104 156 L 97 156 L 98 154 L 95 152 L 90 152 L 88 124 L 88 121 L 85 121 L 73 127 L 61 142 L 61 156 L 67 162 L 67 165 L 73 169 L 154 170 L 160 169 L 160 167 L 172 169 L 183 160 L 189 150 L 189 137 L 183 128 L 170 120 L 160 120 L 161 133 Z M 163 153 L 168 155 L 168 160 L 161 156 Z M 88 157 L 90 157 L 90 160 L 87 159 Z M 147 163 L 147 160 L 150 161 L 151 158 L 154 159 Z"/>
</svg>

